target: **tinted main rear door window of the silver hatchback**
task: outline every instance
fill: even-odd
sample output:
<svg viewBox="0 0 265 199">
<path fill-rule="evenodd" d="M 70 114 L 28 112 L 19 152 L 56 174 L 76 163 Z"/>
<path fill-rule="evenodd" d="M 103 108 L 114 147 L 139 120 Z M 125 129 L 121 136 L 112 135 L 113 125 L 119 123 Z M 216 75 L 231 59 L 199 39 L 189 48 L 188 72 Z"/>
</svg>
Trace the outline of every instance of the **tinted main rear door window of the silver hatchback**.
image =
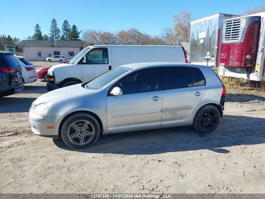
<svg viewBox="0 0 265 199">
<path fill-rule="evenodd" d="M 167 89 L 193 86 L 191 67 L 167 67 Z"/>
</svg>

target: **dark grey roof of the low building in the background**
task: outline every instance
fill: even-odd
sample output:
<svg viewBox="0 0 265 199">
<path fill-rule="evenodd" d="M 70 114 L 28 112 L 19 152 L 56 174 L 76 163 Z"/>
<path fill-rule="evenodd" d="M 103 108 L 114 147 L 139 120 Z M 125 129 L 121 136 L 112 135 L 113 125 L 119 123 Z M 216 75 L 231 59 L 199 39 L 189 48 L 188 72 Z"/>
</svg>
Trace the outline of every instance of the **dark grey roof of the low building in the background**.
<svg viewBox="0 0 265 199">
<path fill-rule="evenodd" d="M 55 46 L 54 41 L 50 40 L 22 40 L 20 47 L 51 47 Z M 56 41 L 56 47 L 82 47 L 82 41 Z"/>
</svg>

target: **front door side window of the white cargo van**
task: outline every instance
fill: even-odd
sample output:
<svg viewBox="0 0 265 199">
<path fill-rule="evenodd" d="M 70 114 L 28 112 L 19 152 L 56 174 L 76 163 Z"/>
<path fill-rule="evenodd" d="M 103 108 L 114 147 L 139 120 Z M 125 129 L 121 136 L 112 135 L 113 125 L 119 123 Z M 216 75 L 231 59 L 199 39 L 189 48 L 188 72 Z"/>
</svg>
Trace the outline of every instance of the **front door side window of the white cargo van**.
<svg viewBox="0 0 265 199">
<path fill-rule="evenodd" d="M 87 55 L 87 64 L 109 64 L 108 48 L 96 48 Z"/>
</svg>

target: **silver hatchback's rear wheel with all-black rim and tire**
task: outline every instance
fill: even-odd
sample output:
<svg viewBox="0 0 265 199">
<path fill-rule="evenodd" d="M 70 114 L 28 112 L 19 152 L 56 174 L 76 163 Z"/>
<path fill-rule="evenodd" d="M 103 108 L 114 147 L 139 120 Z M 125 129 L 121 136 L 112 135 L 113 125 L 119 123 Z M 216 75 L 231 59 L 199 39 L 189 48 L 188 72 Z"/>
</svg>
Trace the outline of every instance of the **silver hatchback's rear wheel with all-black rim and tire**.
<svg viewBox="0 0 265 199">
<path fill-rule="evenodd" d="M 211 133 L 217 128 L 220 119 L 220 112 L 215 106 L 205 105 L 197 111 L 192 126 L 199 133 Z"/>
</svg>

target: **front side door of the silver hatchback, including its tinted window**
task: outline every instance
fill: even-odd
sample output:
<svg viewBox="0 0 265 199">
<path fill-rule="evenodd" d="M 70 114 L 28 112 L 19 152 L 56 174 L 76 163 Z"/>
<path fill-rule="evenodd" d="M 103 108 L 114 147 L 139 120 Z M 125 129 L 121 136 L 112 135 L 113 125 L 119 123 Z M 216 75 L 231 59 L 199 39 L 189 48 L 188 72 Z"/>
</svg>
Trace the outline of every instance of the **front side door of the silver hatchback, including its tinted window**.
<svg viewBox="0 0 265 199">
<path fill-rule="evenodd" d="M 137 70 L 114 84 L 107 96 L 108 130 L 161 124 L 163 101 L 161 68 Z M 114 87 L 122 95 L 113 96 Z"/>
</svg>

